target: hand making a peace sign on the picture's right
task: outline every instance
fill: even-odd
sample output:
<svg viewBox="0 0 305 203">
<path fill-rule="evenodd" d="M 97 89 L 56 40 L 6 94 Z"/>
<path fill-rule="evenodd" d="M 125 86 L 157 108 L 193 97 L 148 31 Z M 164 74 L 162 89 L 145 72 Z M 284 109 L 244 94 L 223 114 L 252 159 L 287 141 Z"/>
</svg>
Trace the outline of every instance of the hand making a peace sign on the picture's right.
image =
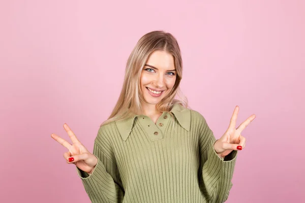
<svg viewBox="0 0 305 203">
<path fill-rule="evenodd" d="M 224 158 L 233 150 L 245 149 L 246 138 L 242 137 L 240 133 L 255 119 L 256 116 L 255 114 L 251 115 L 247 120 L 243 121 L 237 129 L 235 129 L 238 111 L 239 107 L 236 106 L 227 131 L 214 144 L 214 149 L 221 158 Z"/>
</svg>

